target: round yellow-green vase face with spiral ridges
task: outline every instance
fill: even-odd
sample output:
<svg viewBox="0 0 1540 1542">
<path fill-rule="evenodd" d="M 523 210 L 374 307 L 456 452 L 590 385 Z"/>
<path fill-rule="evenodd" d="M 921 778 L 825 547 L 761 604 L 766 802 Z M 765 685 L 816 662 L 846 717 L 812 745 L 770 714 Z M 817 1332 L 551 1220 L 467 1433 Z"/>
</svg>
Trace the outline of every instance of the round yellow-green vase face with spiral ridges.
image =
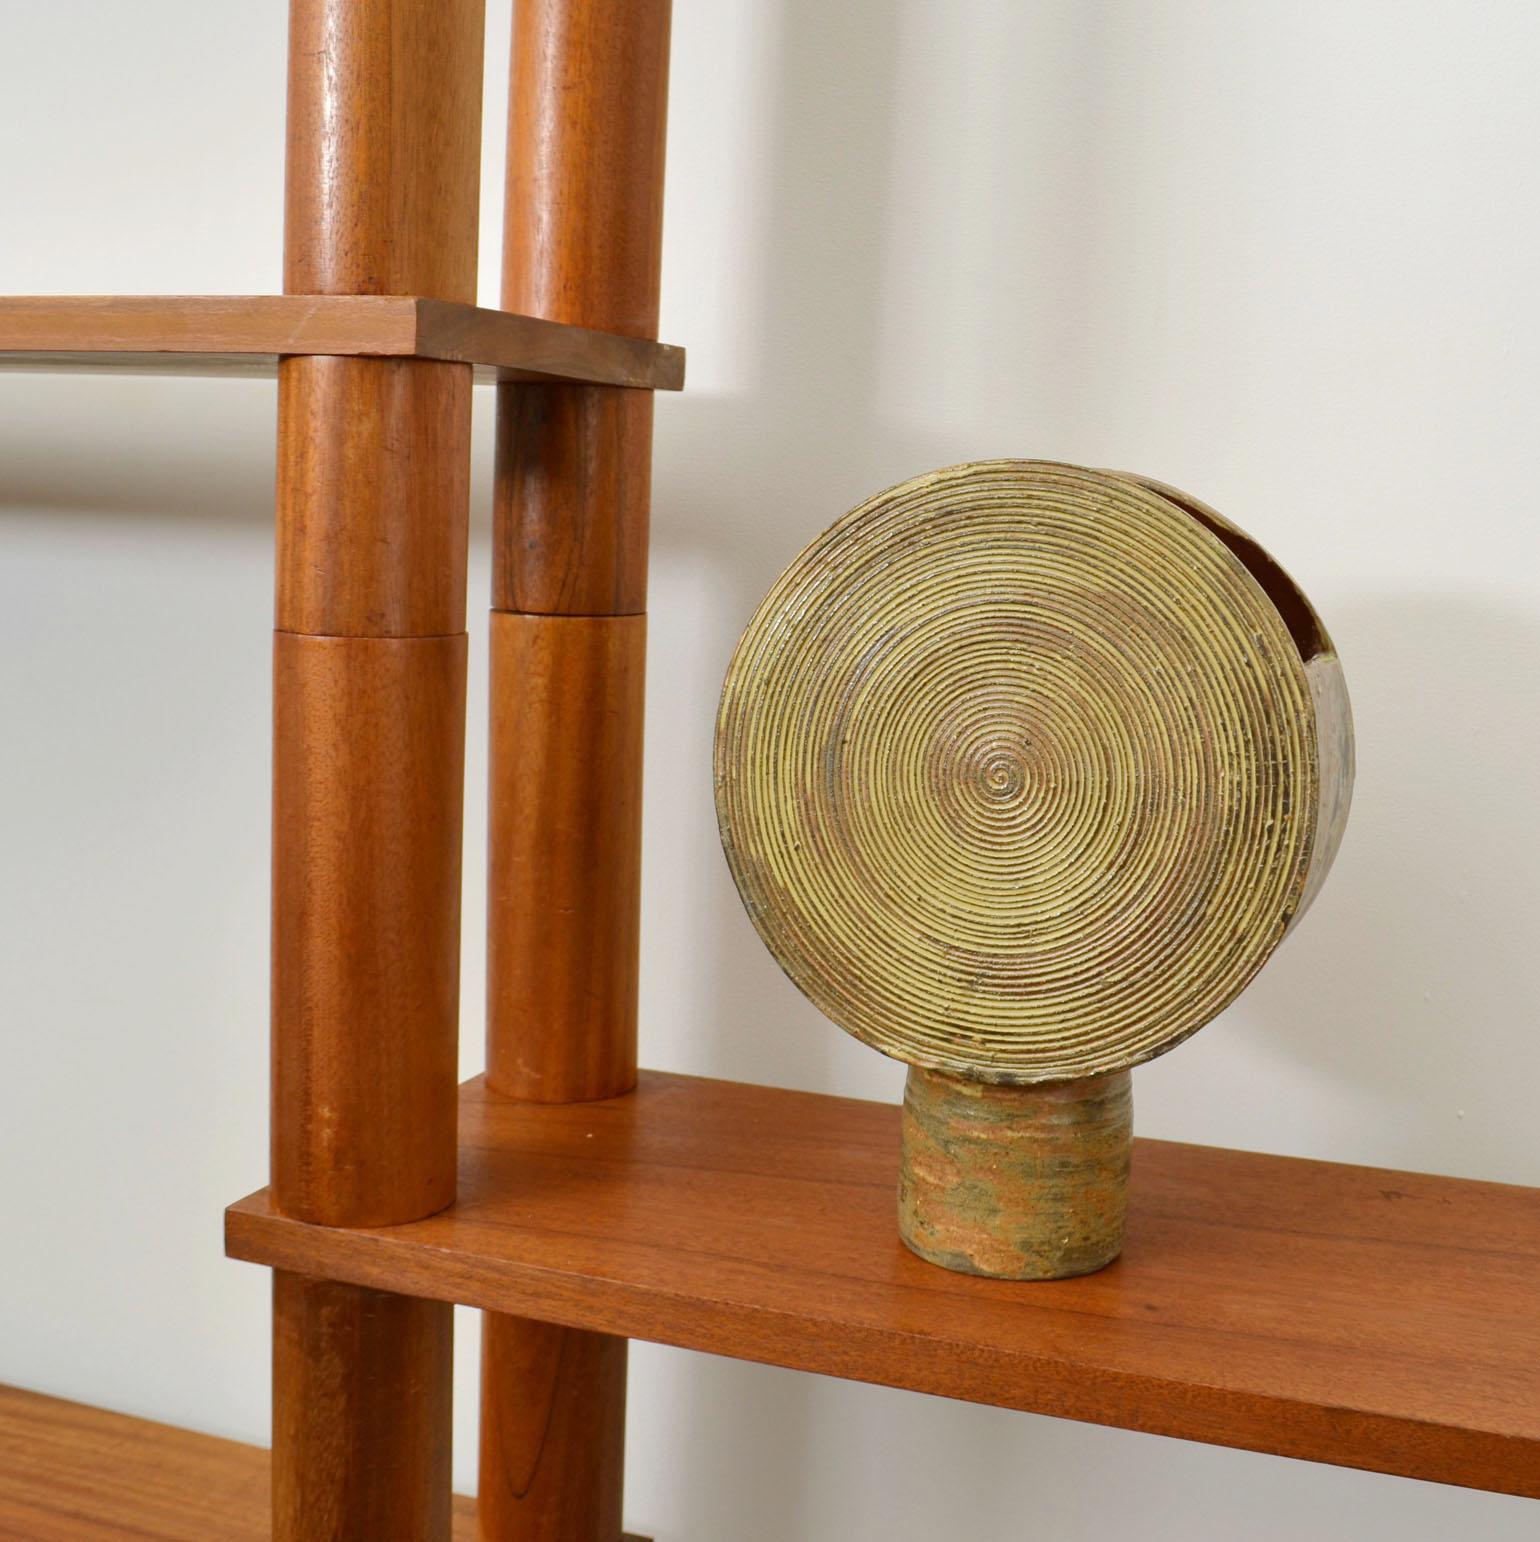
<svg viewBox="0 0 1540 1542">
<path fill-rule="evenodd" d="M 782 575 L 717 720 L 760 936 L 840 1027 L 994 1082 L 1138 1064 L 1219 1012 L 1300 902 L 1318 802 L 1300 648 L 1131 478 L 957 466 Z"/>
</svg>

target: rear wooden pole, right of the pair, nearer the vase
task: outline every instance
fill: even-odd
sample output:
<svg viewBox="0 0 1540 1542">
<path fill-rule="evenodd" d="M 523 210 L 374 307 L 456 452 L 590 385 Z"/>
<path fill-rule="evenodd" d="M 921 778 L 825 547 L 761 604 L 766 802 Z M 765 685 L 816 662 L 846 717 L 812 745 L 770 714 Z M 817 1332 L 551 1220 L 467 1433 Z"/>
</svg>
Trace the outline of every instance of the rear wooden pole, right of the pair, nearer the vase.
<svg viewBox="0 0 1540 1542">
<path fill-rule="evenodd" d="M 655 338 L 669 0 L 515 0 L 503 305 Z M 637 1076 L 652 395 L 498 392 L 487 1081 Z M 615 1542 L 626 1342 L 487 1314 L 489 1542 Z"/>
</svg>

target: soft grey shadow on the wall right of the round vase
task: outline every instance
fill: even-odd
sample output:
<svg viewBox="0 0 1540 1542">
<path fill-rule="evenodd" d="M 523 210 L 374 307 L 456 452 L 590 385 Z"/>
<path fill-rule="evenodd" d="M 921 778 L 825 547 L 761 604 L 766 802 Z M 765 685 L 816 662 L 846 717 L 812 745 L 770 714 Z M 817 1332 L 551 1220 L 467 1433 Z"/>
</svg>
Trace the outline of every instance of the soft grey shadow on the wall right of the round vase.
<svg viewBox="0 0 1540 1542">
<path fill-rule="evenodd" d="M 1358 728 L 1347 839 L 1320 901 L 1242 998 L 1272 1053 L 1346 1084 L 1372 1160 L 1540 1183 L 1540 628 L 1460 595 L 1327 618 Z M 1515 1073 L 1515 1069 L 1518 1073 Z M 1469 1110 L 1469 1118 L 1466 1116 Z M 1480 1110 L 1480 1116 L 1477 1116 Z"/>
</svg>

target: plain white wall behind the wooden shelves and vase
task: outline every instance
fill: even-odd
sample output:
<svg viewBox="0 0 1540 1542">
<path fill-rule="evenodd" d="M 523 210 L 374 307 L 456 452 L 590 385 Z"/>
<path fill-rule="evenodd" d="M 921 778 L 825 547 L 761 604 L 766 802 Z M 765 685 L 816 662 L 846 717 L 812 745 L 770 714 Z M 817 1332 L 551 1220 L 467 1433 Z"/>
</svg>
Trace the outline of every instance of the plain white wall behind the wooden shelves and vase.
<svg viewBox="0 0 1540 1542">
<path fill-rule="evenodd" d="M 0 8 L 0 291 L 279 282 L 284 8 Z M 507 0 L 490 6 L 496 298 Z M 715 692 L 865 493 L 1047 455 L 1189 487 L 1337 635 L 1337 873 L 1145 1135 L 1540 1184 L 1540 11 L 677 0 L 644 1058 L 896 1098 L 754 938 Z M 490 401 L 478 396 L 473 595 Z M 271 386 L 0 376 L 0 1379 L 262 1439 Z M 484 692 L 473 632 L 472 702 Z M 472 712 L 467 1073 L 481 1022 Z M 473 1314 L 456 1437 L 475 1477 Z M 637 1346 L 658 1542 L 1535 1534 L 1520 1500 Z"/>
</svg>

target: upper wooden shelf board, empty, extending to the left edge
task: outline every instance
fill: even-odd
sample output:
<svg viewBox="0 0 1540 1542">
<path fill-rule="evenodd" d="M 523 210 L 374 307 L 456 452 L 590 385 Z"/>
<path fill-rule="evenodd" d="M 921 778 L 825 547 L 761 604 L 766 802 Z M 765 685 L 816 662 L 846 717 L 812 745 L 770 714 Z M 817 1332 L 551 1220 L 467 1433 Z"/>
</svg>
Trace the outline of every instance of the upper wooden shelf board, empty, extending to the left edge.
<svg viewBox="0 0 1540 1542">
<path fill-rule="evenodd" d="M 410 295 L 0 299 L 0 370 L 271 375 L 284 355 L 473 364 L 483 379 L 678 390 L 684 350 Z"/>
</svg>

